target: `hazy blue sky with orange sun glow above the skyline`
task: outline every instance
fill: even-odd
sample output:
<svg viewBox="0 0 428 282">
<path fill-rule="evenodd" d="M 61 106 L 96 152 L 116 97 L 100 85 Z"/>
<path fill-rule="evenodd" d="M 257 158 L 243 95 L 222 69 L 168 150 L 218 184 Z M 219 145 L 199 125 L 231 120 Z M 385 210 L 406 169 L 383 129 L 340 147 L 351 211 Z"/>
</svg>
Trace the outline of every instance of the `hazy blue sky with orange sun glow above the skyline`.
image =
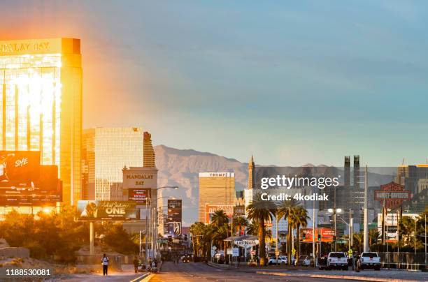
<svg viewBox="0 0 428 282">
<path fill-rule="evenodd" d="M 3 1 L 0 38 L 82 40 L 84 127 L 256 163 L 422 163 L 425 1 Z"/>
</svg>

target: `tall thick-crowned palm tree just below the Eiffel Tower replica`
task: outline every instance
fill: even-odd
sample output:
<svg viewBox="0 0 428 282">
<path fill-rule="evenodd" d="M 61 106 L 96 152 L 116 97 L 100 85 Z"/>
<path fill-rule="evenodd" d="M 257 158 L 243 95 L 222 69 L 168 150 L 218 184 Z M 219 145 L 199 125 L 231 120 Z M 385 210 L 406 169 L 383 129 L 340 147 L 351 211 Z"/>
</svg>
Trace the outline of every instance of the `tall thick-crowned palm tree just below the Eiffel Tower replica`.
<svg viewBox="0 0 428 282">
<path fill-rule="evenodd" d="M 255 195 L 254 199 L 247 207 L 247 218 L 258 223 L 259 237 L 259 258 L 260 265 L 266 264 L 266 228 L 265 222 L 272 219 L 271 211 L 267 207 L 268 203 L 260 198 L 260 195 Z"/>
</svg>

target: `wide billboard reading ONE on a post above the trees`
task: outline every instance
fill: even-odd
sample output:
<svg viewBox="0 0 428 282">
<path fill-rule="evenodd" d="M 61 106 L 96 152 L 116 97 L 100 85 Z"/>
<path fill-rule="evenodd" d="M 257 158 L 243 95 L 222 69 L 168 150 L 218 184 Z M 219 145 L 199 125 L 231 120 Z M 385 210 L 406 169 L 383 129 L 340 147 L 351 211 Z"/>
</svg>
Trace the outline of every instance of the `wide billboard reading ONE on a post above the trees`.
<svg viewBox="0 0 428 282">
<path fill-rule="evenodd" d="M 78 201 L 78 221 L 129 221 L 137 219 L 135 202 L 127 201 Z"/>
</svg>

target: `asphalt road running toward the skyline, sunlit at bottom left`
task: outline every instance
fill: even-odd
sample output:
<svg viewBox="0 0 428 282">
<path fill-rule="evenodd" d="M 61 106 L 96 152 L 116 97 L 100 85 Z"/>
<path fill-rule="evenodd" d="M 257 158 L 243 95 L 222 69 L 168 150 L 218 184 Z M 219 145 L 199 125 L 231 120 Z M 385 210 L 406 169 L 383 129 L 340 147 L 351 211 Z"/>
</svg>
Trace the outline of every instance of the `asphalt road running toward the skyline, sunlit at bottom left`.
<svg viewBox="0 0 428 282">
<path fill-rule="evenodd" d="M 183 263 L 178 265 L 172 262 L 165 262 L 162 272 L 155 274 L 150 282 L 187 282 L 187 281 L 231 281 L 231 282 L 252 282 L 252 281 L 331 281 L 331 279 L 318 279 L 309 277 L 281 277 L 255 274 L 254 272 L 237 272 L 234 270 L 217 269 L 209 267 L 200 262 Z M 341 281 L 341 279 L 334 279 Z M 346 280 L 350 281 L 350 280 Z"/>
</svg>

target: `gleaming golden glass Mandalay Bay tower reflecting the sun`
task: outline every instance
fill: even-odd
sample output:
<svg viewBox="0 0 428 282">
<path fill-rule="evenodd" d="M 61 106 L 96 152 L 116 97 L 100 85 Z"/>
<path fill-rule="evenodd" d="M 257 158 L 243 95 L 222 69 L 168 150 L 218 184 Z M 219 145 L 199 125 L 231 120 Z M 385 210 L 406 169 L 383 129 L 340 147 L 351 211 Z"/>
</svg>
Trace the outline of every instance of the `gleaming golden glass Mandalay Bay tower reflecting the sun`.
<svg viewBox="0 0 428 282">
<path fill-rule="evenodd" d="M 0 41 L 0 148 L 58 165 L 63 202 L 80 199 L 80 39 Z"/>
</svg>

